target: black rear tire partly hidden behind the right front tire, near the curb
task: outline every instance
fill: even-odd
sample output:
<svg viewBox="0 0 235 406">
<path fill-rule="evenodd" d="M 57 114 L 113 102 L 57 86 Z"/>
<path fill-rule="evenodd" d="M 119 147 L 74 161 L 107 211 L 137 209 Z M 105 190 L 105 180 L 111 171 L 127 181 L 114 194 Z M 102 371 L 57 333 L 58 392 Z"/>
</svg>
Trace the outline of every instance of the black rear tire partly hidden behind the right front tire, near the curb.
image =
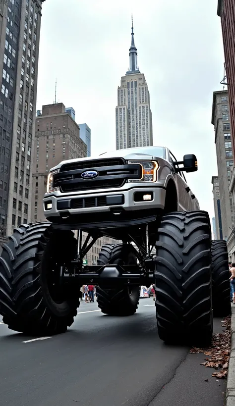
<svg viewBox="0 0 235 406">
<path fill-rule="evenodd" d="M 224 317 L 231 314 L 230 273 L 226 241 L 214 240 L 211 244 L 212 307 L 213 315 Z"/>
</svg>

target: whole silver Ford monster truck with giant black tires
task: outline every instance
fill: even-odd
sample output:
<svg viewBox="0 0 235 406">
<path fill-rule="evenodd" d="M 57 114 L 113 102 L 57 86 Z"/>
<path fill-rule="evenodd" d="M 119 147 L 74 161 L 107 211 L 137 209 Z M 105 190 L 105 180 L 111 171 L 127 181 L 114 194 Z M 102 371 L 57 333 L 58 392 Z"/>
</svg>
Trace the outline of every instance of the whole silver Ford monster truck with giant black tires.
<svg viewBox="0 0 235 406">
<path fill-rule="evenodd" d="M 208 213 L 199 210 L 183 174 L 196 170 L 195 155 L 177 161 L 163 147 L 72 159 L 51 169 L 43 201 L 48 221 L 15 228 L 2 249 L 3 322 L 29 335 L 65 332 L 83 284 L 97 286 L 103 313 L 129 316 L 136 312 L 139 286 L 154 283 L 160 338 L 208 345 L 215 247 Z M 122 243 L 103 246 L 98 264 L 84 266 L 101 236 Z M 220 245 L 220 259 L 225 251 Z M 225 278 L 217 268 L 214 288 L 218 275 Z M 226 295 L 220 300 L 229 312 Z"/>
</svg>

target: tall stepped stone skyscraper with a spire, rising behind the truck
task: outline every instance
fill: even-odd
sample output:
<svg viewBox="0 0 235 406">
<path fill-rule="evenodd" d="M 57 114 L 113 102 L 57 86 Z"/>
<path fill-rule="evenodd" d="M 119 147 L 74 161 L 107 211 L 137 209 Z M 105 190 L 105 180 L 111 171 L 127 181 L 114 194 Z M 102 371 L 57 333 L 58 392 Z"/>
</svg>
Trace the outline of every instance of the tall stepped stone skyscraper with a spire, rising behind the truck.
<svg viewBox="0 0 235 406">
<path fill-rule="evenodd" d="M 153 145 L 152 112 L 148 85 L 137 64 L 133 20 L 129 69 L 117 89 L 116 149 Z"/>
</svg>

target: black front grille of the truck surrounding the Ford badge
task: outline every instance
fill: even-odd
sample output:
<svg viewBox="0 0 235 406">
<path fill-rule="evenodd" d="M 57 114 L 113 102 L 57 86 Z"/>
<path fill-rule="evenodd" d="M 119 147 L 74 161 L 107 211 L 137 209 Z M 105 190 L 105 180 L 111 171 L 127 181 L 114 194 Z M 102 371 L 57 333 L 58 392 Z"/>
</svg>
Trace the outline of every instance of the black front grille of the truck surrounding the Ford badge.
<svg viewBox="0 0 235 406">
<path fill-rule="evenodd" d="M 82 173 L 90 169 L 99 175 L 83 179 Z M 126 164 L 123 158 L 94 159 L 62 165 L 59 173 L 54 175 L 53 187 L 59 187 L 62 193 L 119 188 L 127 179 L 141 179 L 141 176 L 141 166 Z"/>
</svg>

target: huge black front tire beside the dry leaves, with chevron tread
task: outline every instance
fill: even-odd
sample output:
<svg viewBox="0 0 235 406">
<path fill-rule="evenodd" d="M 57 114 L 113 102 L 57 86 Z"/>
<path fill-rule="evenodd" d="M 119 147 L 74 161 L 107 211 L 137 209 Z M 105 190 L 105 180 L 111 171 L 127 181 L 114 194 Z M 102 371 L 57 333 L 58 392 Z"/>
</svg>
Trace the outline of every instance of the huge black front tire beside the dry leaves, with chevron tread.
<svg viewBox="0 0 235 406">
<path fill-rule="evenodd" d="M 205 211 L 162 218 L 156 243 L 159 337 L 172 344 L 210 345 L 213 333 L 211 228 Z"/>
</svg>

